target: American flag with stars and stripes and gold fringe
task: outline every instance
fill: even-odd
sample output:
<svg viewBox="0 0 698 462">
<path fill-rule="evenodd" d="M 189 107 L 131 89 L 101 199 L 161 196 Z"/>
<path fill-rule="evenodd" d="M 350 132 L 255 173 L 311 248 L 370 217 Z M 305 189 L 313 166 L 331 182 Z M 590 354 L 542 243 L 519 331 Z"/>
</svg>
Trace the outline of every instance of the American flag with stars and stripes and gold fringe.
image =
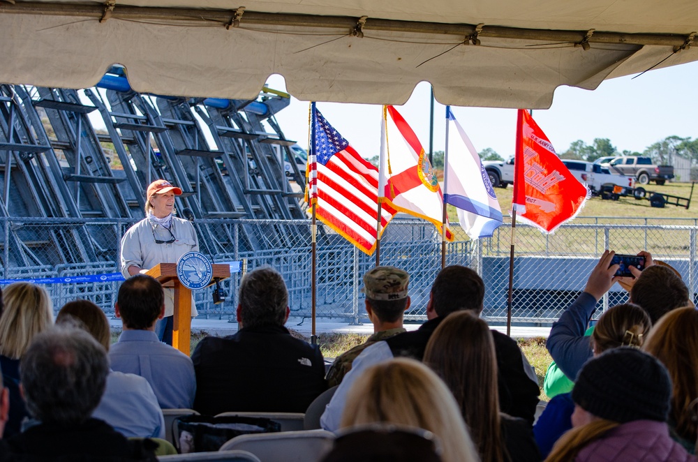
<svg viewBox="0 0 698 462">
<path fill-rule="evenodd" d="M 315 202 L 315 214 L 322 223 L 371 255 L 376 249 L 378 169 L 359 156 L 315 103 L 311 113 L 309 202 Z M 383 204 L 381 230 L 395 213 Z"/>
</svg>

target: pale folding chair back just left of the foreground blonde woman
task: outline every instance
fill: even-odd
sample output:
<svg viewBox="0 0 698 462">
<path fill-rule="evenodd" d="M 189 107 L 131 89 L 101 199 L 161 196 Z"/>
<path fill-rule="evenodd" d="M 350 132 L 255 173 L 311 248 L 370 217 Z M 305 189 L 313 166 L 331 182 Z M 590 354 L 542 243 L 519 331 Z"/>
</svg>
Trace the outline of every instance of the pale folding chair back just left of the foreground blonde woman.
<svg viewBox="0 0 698 462">
<path fill-rule="evenodd" d="M 239 435 L 221 446 L 221 451 L 242 449 L 260 462 L 318 462 L 330 449 L 334 433 L 325 430 L 284 431 Z"/>
</svg>

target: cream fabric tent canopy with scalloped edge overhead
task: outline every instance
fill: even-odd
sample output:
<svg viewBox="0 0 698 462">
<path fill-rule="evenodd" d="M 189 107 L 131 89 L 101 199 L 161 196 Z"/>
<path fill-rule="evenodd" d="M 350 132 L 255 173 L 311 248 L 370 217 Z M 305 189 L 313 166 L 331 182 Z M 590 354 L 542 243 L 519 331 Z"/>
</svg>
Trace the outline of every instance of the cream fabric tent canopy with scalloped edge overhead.
<svg viewBox="0 0 698 462">
<path fill-rule="evenodd" d="M 46 87 L 121 64 L 156 94 L 255 98 L 278 73 L 301 100 L 401 104 L 428 81 L 440 103 L 537 109 L 698 60 L 695 0 L 5 1 L 0 82 Z"/>
</svg>

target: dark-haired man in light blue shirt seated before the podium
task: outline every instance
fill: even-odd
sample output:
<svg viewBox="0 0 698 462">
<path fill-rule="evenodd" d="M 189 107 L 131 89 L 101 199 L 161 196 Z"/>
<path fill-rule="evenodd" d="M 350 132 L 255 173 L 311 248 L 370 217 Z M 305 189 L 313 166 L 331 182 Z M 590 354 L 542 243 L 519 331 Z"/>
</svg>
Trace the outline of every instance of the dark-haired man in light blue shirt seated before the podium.
<svg viewBox="0 0 698 462">
<path fill-rule="evenodd" d="M 196 392 L 191 358 L 162 343 L 155 334 L 155 322 L 165 313 L 163 297 L 163 286 L 145 274 L 121 284 L 114 311 L 123 331 L 109 359 L 114 371 L 145 378 L 161 408 L 191 408 Z"/>
</svg>

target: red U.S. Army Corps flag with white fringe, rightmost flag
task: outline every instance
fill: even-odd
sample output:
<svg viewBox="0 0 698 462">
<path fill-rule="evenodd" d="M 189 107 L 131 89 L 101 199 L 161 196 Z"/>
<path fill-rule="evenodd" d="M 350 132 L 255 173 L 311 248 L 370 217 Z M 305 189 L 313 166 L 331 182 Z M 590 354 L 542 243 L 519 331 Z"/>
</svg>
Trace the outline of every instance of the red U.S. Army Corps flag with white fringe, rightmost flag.
<svg viewBox="0 0 698 462">
<path fill-rule="evenodd" d="M 543 232 L 577 216 L 588 198 L 528 111 L 519 109 L 512 209 Z"/>
</svg>

